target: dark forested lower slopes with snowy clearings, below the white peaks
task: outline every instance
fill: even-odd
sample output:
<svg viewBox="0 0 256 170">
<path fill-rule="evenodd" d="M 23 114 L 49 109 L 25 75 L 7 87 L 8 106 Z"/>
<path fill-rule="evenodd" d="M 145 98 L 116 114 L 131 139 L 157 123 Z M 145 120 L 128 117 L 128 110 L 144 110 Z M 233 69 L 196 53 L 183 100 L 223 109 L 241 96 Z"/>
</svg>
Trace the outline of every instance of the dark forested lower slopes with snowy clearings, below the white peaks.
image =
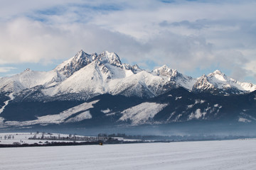
<svg viewBox="0 0 256 170">
<path fill-rule="evenodd" d="M 154 98 L 103 94 L 88 101 L 11 102 L 0 126 L 170 125 L 173 123 L 256 123 L 256 92 L 236 96 L 191 93 L 182 87 Z"/>
</svg>

